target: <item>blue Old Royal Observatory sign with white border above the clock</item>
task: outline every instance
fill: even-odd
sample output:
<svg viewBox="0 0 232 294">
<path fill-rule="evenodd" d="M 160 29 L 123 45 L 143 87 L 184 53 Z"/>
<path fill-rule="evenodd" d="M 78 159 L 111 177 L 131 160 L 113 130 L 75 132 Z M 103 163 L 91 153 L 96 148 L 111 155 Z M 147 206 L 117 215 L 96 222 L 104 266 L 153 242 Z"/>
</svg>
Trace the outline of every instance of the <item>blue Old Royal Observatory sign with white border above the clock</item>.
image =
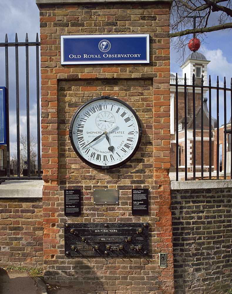
<svg viewBox="0 0 232 294">
<path fill-rule="evenodd" d="M 60 38 L 61 64 L 149 63 L 149 34 Z"/>
</svg>

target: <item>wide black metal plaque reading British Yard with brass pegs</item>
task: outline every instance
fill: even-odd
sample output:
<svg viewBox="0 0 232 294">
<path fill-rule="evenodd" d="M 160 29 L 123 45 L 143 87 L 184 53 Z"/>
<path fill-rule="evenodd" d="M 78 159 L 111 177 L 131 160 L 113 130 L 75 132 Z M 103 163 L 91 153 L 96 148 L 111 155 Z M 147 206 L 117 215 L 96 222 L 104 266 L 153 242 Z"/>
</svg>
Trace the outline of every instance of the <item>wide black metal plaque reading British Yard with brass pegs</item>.
<svg viewBox="0 0 232 294">
<path fill-rule="evenodd" d="M 65 255 L 148 255 L 148 223 L 66 223 Z"/>
</svg>

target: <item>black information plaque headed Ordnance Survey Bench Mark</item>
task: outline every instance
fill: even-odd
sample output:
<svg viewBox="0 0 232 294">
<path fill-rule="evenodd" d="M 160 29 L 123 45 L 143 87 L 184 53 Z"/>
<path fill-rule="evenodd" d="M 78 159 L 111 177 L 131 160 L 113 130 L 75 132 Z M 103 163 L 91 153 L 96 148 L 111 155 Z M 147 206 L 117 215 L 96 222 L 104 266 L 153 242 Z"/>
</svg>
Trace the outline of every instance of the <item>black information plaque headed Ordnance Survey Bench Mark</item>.
<svg viewBox="0 0 232 294">
<path fill-rule="evenodd" d="M 148 215 L 148 189 L 132 189 L 132 214 Z"/>
</svg>

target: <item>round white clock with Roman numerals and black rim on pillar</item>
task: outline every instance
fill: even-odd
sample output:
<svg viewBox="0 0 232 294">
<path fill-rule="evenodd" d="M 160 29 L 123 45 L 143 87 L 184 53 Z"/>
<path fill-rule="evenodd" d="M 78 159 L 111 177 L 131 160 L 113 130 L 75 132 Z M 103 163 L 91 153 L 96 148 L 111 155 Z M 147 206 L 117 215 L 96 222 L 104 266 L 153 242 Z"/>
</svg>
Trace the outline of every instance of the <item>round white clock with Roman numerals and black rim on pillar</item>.
<svg viewBox="0 0 232 294">
<path fill-rule="evenodd" d="M 135 111 L 120 99 L 101 96 L 83 104 L 69 129 L 78 157 L 93 168 L 122 166 L 136 153 L 142 128 Z"/>
</svg>

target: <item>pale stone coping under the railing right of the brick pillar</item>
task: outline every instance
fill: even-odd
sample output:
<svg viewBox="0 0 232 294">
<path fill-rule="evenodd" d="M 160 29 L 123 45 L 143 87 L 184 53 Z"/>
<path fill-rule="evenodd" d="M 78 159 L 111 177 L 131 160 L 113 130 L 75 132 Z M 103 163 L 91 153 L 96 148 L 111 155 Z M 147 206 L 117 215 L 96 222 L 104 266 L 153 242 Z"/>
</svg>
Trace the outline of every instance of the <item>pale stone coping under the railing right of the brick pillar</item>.
<svg viewBox="0 0 232 294">
<path fill-rule="evenodd" d="M 232 188 L 232 180 L 171 181 L 171 190 Z"/>
</svg>

